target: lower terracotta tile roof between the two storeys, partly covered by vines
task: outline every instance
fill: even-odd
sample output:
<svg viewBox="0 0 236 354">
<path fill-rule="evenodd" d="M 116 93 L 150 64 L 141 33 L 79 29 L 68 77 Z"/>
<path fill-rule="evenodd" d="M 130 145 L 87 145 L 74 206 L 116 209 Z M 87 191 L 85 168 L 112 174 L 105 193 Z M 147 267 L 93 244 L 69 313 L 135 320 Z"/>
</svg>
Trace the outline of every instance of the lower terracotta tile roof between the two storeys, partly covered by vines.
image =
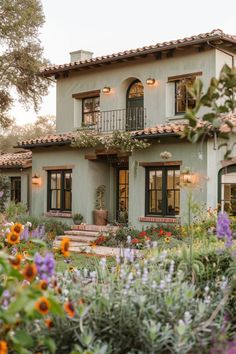
<svg viewBox="0 0 236 354">
<path fill-rule="evenodd" d="M 236 128 L 236 113 L 227 114 L 222 117 L 223 120 L 228 120 L 233 124 Z M 184 130 L 186 125 L 186 120 L 178 120 L 165 124 L 157 124 L 155 127 L 145 128 L 143 130 L 137 130 L 131 132 L 131 134 L 135 137 L 143 137 L 143 136 L 165 136 L 165 135 L 178 135 Z M 199 125 L 204 126 L 204 122 L 199 120 Z M 230 131 L 229 126 L 227 124 L 222 125 L 222 132 Z M 96 131 L 91 131 L 91 133 L 96 135 Z M 51 134 L 45 135 L 38 139 L 29 139 L 25 141 L 21 141 L 18 143 L 18 146 L 22 148 L 31 148 L 36 146 L 52 146 L 52 145 L 69 145 L 71 142 L 75 141 L 76 137 L 79 135 L 78 132 L 68 132 L 64 134 Z M 104 134 L 104 138 L 106 135 Z"/>
</svg>

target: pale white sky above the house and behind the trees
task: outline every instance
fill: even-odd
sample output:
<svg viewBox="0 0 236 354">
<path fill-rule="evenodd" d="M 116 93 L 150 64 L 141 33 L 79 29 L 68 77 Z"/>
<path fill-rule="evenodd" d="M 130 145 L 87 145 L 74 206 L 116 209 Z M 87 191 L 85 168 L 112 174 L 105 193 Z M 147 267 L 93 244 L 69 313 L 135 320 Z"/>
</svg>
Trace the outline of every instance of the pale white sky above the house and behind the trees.
<svg viewBox="0 0 236 354">
<path fill-rule="evenodd" d="M 40 40 L 52 64 L 69 62 L 69 53 L 79 49 L 96 57 L 217 28 L 236 35 L 236 0 L 42 0 L 42 5 Z M 12 117 L 24 124 L 56 115 L 55 91 L 50 88 L 38 113 L 16 104 Z"/>
</svg>

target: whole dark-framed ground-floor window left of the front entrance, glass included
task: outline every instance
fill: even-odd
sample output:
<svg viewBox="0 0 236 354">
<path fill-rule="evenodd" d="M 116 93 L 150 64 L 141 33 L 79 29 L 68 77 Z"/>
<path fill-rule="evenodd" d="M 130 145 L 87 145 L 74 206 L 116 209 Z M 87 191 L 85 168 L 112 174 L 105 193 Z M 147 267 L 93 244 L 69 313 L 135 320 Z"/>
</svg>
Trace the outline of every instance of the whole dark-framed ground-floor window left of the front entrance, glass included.
<svg viewBox="0 0 236 354">
<path fill-rule="evenodd" d="M 48 171 L 48 211 L 71 211 L 72 171 Z"/>
</svg>

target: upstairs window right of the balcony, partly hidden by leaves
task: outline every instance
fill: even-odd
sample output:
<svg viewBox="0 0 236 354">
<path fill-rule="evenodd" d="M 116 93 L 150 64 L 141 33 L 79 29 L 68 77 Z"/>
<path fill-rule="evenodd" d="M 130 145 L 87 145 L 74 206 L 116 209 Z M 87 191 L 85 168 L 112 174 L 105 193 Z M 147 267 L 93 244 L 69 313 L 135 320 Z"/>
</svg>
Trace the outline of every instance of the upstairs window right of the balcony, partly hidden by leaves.
<svg viewBox="0 0 236 354">
<path fill-rule="evenodd" d="M 194 108 L 196 100 L 188 92 L 196 77 L 186 77 L 175 81 L 175 114 L 185 113 L 188 108 Z"/>
</svg>

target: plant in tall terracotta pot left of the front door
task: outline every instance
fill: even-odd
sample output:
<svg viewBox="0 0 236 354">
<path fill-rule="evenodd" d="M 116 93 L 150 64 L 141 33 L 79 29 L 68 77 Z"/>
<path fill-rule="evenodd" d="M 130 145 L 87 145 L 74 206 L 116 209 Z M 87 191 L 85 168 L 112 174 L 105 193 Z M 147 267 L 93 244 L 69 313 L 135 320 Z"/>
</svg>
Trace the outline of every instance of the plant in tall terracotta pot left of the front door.
<svg viewBox="0 0 236 354">
<path fill-rule="evenodd" d="M 96 188 L 96 203 L 93 211 L 95 225 L 107 225 L 108 210 L 105 209 L 105 191 L 105 185 Z"/>
</svg>

